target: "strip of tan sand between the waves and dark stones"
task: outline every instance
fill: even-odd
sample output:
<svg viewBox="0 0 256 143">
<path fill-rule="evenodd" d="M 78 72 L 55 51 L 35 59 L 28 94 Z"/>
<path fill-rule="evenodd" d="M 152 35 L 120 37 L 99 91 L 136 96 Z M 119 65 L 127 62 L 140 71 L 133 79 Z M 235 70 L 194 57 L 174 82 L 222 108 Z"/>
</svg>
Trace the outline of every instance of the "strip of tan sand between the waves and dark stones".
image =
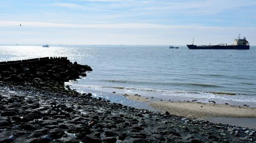
<svg viewBox="0 0 256 143">
<path fill-rule="evenodd" d="M 256 118 L 256 108 L 215 103 L 154 101 L 142 96 L 128 95 L 127 98 L 147 102 L 162 112 L 186 118 L 206 119 L 212 117 Z"/>
</svg>

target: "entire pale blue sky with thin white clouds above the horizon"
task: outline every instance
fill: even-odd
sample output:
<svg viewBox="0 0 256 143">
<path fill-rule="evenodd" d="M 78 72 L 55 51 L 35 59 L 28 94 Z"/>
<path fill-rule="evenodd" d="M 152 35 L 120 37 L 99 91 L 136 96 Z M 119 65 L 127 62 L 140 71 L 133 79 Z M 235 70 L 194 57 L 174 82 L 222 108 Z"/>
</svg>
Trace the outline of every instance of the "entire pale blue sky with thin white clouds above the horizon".
<svg viewBox="0 0 256 143">
<path fill-rule="evenodd" d="M 0 45 L 232 44 L 239 34 L 256 45 L 255 0 L 0 1 Z"/>
</svg>

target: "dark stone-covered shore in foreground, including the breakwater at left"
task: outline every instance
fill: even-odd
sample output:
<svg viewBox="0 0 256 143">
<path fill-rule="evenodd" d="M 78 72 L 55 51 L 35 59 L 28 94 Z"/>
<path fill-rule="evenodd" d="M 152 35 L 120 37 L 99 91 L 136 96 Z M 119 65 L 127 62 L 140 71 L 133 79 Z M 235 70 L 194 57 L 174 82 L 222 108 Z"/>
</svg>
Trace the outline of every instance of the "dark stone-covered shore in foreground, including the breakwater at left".
<svg viewBox="0 0 256 143">
<path fill-rule="evenodd" d="M 0 142 L 256 142 L 248 128 L 153 112 L 80 94 L 67 58 L 0 63 Z"/>
</svg>

